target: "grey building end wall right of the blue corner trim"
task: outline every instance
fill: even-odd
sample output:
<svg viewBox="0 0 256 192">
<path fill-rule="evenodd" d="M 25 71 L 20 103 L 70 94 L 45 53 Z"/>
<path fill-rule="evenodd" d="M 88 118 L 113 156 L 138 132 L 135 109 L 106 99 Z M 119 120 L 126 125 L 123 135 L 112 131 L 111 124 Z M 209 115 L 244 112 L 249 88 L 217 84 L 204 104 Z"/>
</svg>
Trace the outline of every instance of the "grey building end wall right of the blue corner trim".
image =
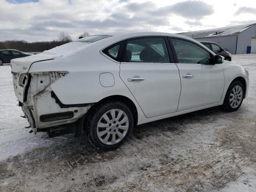
<svg viewBox="0 0 256 192">
<path fill-rule="evenodd" d="M 252 37 L 256 37 L 256 25 L 238 34 L 236 54 L 245 54 L 247 46 L 251 46 Z"/>
</svg>

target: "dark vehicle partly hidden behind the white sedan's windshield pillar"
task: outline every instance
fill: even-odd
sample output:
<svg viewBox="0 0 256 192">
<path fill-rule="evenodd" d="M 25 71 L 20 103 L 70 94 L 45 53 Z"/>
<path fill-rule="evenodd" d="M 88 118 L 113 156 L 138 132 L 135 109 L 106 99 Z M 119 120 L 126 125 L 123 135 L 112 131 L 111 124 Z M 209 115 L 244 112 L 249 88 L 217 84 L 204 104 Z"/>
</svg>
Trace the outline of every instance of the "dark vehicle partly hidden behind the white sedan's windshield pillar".
<svg viewBox="0 0 256 192">
<path fill-rule="evenodd" d="M 199 41 L 202 43 L 204 46 L 212 50 L 214 53 L 217 55 L 221 55 L 225 58 L 227 61 L 231 61 L 231 54 L 228 52 L 227 48 L 222 48 L 218 44 L 214 42 L 209 42 L 209 41 Z"/>
</svg>

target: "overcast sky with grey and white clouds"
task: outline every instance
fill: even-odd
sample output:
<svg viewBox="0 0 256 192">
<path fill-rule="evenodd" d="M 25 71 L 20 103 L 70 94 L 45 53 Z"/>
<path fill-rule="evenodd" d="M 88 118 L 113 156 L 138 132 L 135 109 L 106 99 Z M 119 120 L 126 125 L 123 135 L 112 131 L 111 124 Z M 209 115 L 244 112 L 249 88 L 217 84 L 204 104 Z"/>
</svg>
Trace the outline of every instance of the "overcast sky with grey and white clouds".
<svg viewBox="0 0 256 192">
<path fill-rule="evenodd" d="M 256 23 L 256 0 L 0 0 L 0 40 L 84 31 L 186 32 Z"/>
</svg>

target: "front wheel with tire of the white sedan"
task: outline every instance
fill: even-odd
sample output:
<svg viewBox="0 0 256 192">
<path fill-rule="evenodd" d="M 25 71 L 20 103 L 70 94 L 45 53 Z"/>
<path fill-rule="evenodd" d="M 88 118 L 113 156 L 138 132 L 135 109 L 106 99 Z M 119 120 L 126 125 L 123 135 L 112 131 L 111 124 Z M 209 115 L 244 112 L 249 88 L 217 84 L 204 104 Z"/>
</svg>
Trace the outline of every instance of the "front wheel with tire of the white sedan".
<svg viewBox="0 0 256 192">
<path fill-rule="evenodd" d="M 240 81 L 232 82 L 226 92 L 222 109 L 228 112 L 238 110 L 243 102 L 244 94 L 244 85 Z"/>
</svg>

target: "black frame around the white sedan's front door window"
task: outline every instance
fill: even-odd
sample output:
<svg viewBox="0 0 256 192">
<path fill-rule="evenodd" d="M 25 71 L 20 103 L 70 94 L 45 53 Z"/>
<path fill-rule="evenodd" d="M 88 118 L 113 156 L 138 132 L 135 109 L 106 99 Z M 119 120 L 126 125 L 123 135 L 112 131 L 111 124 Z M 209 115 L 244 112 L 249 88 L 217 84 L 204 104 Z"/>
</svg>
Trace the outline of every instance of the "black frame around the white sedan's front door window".
<svg viewBox="0 0 256 192">
<path fill-rule="evenodd" d="M 179 61 L 178 61 L 178 57 L 177 57 L 177 54 L 176 54 L 176 51 L 175 51 L 175 48 L 172 44 L 172 39 L 178 39 L 178 40 L 184 40 L 184 41 L 187 41 L 187 42 L 190 42 L 192 44 L 195 44 L 197 46 L 199 46 L 200 48 L 202 48 L 203 50 L 205 50 L 206 52 L 208 52 L 210 54 L 210 58 L 211 58 L 211 62 L 210 64 L 189 64 L 189 63 L 182 63 L 184 65 L 214 65 L 214 61 L 215 61 L 215 58 L 214 58 L 214 55 L 209 52 L 209 50 L 207 50 L 206 48 L 204 48 L 203 46 L 201 46 L 200 44 L 197 44 L 196 42 L 193 42 L 191 40 L 188 40 L 188 39 L 184 39 L 184 38 L 180 38 L 180 37 L 172 37 L 172 36 L 168 36 L 168 41 L 170 43 L 170 47 L 172 49 L 172 53 L 173 53 L 173 56 L 174 56 L 174 61 L 176 62 L 176 64 L 179 64 Z"/>
</svg>

